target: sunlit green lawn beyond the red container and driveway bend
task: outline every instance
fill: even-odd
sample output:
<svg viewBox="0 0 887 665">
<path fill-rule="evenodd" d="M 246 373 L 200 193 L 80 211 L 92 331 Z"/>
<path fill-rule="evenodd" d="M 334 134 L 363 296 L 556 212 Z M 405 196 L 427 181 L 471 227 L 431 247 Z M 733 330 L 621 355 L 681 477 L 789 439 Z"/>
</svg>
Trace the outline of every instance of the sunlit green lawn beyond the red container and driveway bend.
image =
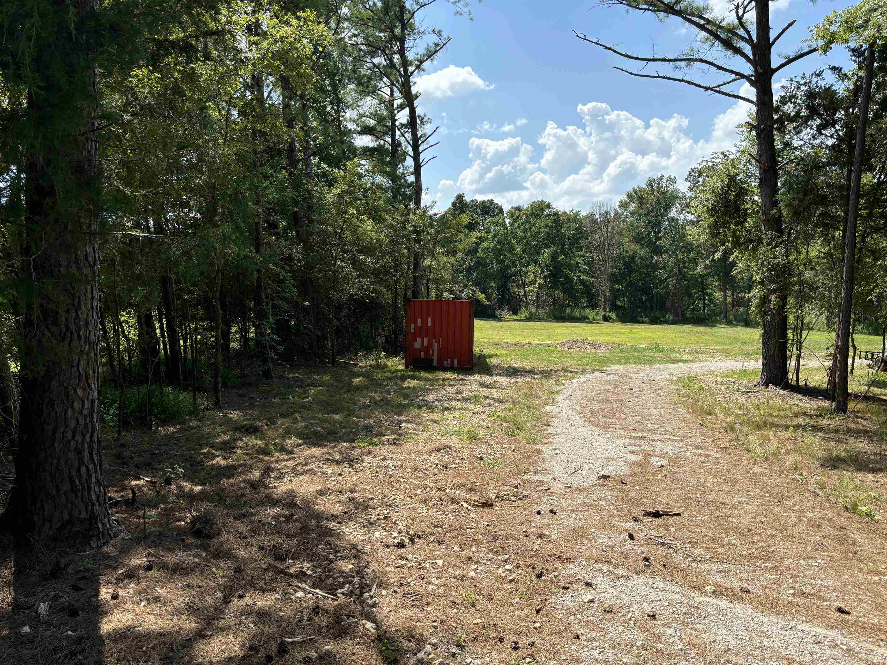
<svg viewBox="0 0 887 665">
<path fill-rule="evenodd" d="M 577 338 L 624 346 L 615 346 L 606 353 L 555 346 L 557 342 Z M 813 331 L 807 338 L 807 347 L 818 355 L 828 343 L 828 332 Z M 859 348 L 881 348 L 881 339 L 870 335 L 857 335 L 856 343 Z M 759 357 L 760 332 L 742 325 L 477 319 L 475 349 L 483 349 L 493 361 L 516 367 L 681 363 L 711 357 Z"/>
</svg>

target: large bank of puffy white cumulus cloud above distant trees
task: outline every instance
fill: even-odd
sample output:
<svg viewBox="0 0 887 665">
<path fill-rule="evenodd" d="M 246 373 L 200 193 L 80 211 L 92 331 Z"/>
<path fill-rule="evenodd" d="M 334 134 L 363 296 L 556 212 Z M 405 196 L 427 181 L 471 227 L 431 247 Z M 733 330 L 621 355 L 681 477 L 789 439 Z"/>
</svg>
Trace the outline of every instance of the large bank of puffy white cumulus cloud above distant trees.
<svg viewBox="0 0 887 665">
<path fill-rule="evenodd" d="M 491 198 L 505 207 L 546 199 L 561 208 L 586 209 L 660 173 L 682 181 L 699 160 L 734 145 L 736 125 L 747 119 L 748 110 L 748 104 L 738 102 L 714 118 L 707 137 L 695 140 L 689 121 L 679 114 L 643 121 L 601 102 L 580 104 L 581 126 L 546 123 L 537 137 L 538 160 L 521 137 L 471 137 L 471 166 L 455 182 L 445 181 L 437 203 L 449 205 L 456 193 L 465 192 L 468 198 Z"/>
</svg>

